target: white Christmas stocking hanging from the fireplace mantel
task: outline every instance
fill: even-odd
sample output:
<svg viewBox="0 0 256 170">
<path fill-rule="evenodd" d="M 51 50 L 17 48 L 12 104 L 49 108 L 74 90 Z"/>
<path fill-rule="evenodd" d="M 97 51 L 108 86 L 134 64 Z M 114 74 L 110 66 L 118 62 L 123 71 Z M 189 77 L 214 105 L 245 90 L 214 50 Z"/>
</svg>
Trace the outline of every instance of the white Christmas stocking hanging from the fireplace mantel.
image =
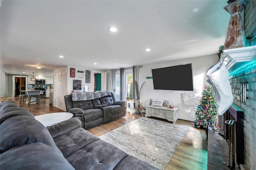
<svg viewBox="0 0 256 170">
<path fill-rule="evenodd" d="M 232 89 L 228 80 L 229 72 L 223 62 L 220 62 L 206 71 L 215 90 L 217 112 L 223 115 L 234 101 Z"/>
</svg>

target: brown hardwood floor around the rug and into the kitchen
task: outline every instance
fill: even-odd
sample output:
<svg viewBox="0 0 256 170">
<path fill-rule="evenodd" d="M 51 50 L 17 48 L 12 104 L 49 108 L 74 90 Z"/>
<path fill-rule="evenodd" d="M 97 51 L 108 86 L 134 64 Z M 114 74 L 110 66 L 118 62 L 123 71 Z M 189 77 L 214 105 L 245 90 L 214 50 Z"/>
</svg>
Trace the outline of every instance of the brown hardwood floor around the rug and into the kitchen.
<svg viewBox="0 0 256 170">
<path fill-rule="evenodd" d="M 19 97 L 2 97 L 0 98 L 0 102 L 7 99 L 14 100 L 16 101 L 16 103 L 19 103 Z M 52 105 L 49 105 L 49 99 L 41 99 L 39 104 L 24 104 L 22 106 L 25 109 L 34 108 L 42 114 L 63 112 L 62 110 L 53 107 Z M 125 117 L 122 117 L 110 123 L 106 123 L 104 125 L 90 128 L 88 129 L 88 131 L 96 136 L 100 136 L 140 117 L 141 115 L 127 113 Z M 157 119 L 160 121 L 168 122 L 164 119 L 158 119 L 153 117 L 150 117 L 149 119 Z M 178 119 L 176 125 L 186 126 L 188 127 L 188 131 L 186 132 L 178 148 L 174 152 L 174 155 L 168 163 L 166 170 L 207 170 L 208 151 L 205 130 L 194 128 L 193 122 L 180 119 Z"/>
</svg>

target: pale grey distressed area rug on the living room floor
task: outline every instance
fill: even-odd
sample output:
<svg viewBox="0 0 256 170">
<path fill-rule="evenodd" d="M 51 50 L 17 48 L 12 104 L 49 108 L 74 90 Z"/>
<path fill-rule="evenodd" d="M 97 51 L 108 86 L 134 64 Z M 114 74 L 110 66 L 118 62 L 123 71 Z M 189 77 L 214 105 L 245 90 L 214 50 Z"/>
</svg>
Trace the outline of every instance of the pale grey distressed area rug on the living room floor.
<svg viewBox="0 0 256 170">
<path fill-rule="evenodd" d="M 164 170 L 187 130 L 180 125 L 141 117 L 99 138 Z"/>
</svg>

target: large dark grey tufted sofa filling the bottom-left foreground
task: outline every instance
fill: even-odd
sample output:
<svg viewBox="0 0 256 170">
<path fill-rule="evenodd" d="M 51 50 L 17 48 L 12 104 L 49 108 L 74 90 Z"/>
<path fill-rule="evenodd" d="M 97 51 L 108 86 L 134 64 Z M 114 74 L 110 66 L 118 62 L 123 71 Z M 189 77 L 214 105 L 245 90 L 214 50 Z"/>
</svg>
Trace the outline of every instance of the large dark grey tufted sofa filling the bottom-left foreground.
<svg viewBox="0 0 256 170">
<path fill-rule="evenodd" d="M 78 118 L 44 127 L 14 101 L 0 107 L 1 170 L 156 170 L 100 140 Z"/>
</svg>

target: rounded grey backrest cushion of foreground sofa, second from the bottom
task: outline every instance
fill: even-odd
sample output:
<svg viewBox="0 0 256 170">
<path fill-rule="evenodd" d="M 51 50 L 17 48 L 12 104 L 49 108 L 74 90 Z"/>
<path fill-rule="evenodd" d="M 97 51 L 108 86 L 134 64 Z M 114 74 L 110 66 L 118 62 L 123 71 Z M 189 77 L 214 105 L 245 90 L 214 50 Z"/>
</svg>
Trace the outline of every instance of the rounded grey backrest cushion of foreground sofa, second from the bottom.
<svg viewBox="0 0 256 170">
<path fill-rule="evenodd" d="M 42 142 L 58 150 L 50 132 L 32 117 L 22 115 L 6 119 L 0 125 L 0 134 L 0 153 L 36 142 Z M 60 150 L 58 151 L 60 152 Z"/>
</svg>

